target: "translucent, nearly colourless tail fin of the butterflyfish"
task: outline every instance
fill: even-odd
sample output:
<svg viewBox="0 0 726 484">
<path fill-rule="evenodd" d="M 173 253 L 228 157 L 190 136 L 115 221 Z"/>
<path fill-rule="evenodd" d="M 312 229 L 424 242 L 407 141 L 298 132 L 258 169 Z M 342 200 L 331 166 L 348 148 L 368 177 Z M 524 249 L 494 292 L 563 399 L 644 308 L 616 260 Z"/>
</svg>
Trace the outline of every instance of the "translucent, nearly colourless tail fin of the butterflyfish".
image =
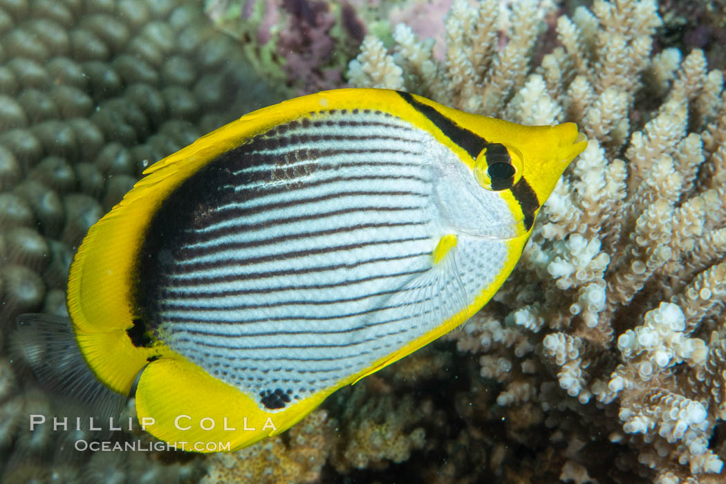
<svg viewBox="0 0 726 484">
<path fill-rule="evenodd" d="M 121 414 L 128 395 L 110 390 L 91 372 L 68 318 L 21 314 L 17 316 L 16 341 L 44 389 L 78 403 L 73 406 L 77 417 L 107 422 Z M 89 423 L 87 419 L 85 422 Z"/>
</svg>

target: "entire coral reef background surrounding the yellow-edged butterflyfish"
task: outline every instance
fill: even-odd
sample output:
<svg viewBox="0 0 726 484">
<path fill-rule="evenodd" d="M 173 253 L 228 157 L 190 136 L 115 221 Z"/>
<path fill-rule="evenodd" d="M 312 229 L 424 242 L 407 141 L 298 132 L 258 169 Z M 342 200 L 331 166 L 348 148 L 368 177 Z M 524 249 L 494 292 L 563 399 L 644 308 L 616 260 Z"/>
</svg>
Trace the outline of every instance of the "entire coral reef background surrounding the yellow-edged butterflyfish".
<svg viewBox="0 0 726 484">
<path fill-rule="evenodd" d="M 720 482 L 725 23 L 722 1 L 0 0 L 1 480 Z M 587 133 L 494 300 L 233 454 L 28 432 L 67 403 L 14 319 L 65 314 L 89 226 L 198 136 L 346 83 Z"/>
</svg>

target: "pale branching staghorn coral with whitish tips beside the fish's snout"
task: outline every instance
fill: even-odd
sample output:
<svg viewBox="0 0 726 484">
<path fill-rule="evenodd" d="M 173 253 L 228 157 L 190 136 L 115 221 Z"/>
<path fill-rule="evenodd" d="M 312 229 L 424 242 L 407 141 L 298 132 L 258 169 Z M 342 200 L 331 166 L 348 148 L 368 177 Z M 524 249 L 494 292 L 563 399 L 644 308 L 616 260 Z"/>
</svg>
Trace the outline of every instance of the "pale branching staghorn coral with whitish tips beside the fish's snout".
<svg viewBox="0 0 726 484">
<path fill-rule="evenodd" d="M 368 37 L 348 70 L 355 86 L 519 123 L 572 120 L 590 138 L 495 302 L 448 339 L 481 355 L 508 422 L 534 403 L 553 442 L 583 442 L 542 449 L 563 479 L 714 482 L 726 458 L 722 71 L 698 49 L 653 52 L 655 1 L 597 0 L 556 21 L 547 2 L 497 21 L 500 7 L 454 1 L 444 60 L 397 25 L 391 52 Z M 542 50 L 542 36 L 558 45 Z M 530 422 L 510 424 L 511 438 L 543 431 Z M 608 446 L 613 467 L 587 459 Z"/>
</svg>

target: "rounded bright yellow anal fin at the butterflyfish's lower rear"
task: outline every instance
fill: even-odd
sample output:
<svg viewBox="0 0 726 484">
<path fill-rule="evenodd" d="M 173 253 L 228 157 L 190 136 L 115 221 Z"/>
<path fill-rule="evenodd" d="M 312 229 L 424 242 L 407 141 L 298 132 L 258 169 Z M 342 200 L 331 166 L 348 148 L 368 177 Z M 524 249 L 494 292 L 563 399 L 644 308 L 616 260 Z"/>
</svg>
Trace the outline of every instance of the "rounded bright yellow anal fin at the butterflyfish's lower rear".
<svg viewBox="0 0 726 484">
<path fill-rule="evenodd" d="M 147 432 L 177 449 L 236 451 L 277 435 L 313 411 L 330 392 L 266 411 L 237 387 L 184 358 L 160 358 L 142 372 L 136 414 Z M 182 445 L 182 443 L 184 443 Z"/>
</svg>

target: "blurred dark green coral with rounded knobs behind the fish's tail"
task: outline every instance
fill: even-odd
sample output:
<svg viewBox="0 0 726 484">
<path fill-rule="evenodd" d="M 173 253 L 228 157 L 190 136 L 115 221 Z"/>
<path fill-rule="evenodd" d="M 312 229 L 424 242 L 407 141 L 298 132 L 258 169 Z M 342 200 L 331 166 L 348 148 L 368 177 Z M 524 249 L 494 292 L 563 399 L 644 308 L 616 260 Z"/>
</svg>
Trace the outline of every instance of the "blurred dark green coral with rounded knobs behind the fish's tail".
<svg viewBox="0 0 726 484">
<path fill-rule="evenodd" d="M 65 314 L 73 251 L 147 165 L 277 95 L 200 1 L 0 0 L 2 482 L 198 478 L 191 454 L 91 456 L 73 448 L 83 431 L 30 432 L 30 414 L 70 412 L 33 383 L 12 328 Z"/>
</svg>

